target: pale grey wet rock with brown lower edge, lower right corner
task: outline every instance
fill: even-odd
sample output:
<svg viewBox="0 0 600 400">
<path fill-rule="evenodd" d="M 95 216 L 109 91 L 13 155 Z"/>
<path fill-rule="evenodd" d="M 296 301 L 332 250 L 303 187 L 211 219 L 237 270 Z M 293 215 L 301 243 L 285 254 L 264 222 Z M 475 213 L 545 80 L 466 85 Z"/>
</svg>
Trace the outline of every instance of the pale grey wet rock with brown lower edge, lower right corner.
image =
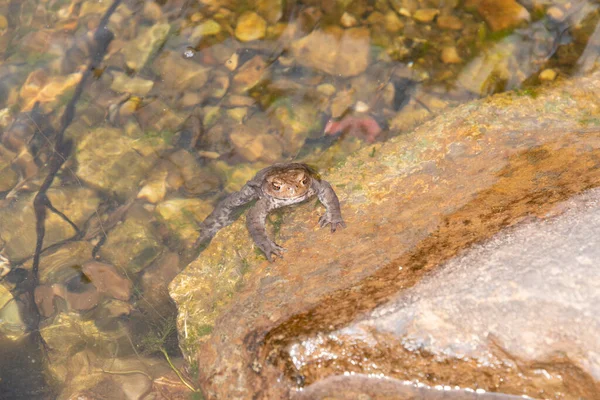
<svg viewBox="0 0 600 400">
<path fill-rule="evenodd" d="M 473 246 L 367 318 L 290 344 L 289 361 L 316 382 L 361 365 L 356 372 L 400 380 L 432 374 L 432 384 L 498 392 L 522 381 L 534 398 L 594 398 L 600 190 L 551 212 L 561 215 Z"/>
</svg>

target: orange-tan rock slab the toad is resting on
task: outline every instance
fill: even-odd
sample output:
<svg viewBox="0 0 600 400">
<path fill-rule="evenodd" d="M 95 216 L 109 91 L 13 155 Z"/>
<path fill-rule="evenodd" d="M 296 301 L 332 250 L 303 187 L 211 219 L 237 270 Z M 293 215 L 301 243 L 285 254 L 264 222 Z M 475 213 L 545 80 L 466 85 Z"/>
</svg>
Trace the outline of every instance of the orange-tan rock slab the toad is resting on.
<svg viewBox="0 0 600 400">
<path fill-rule="evenodd" d="M 598 130 L 579 122 L 584 115 L 597 114 L 598 101 L 591 93 L 598 85 L 594 75 L 540 91 L 535 99 L 516 93 L 499 95 L 458 107 L 424 124 L 414 135 L 359 151 L 324 175 L 340 197 L 348 228 L 334 235 L 319 230 L 316 220 L 323 211 L 313 202 L 274 215 L 271 229 L 277 242 L 288 249 L 285 258 L 274 263 L 266 263 L 254 251 L 242 220 L 219 232 L 170 286 L 178 304 L 182 349 L 200 367 L 200 383 L 208 397 L 243 397 L 249 392 L 259 398 L 287 397 L 300 387 L 350 371 L 432 387 L 458 386 L 516 395 L 552 393 L 559 398 L 575 398 L 570 392 L 574 387 L 581 388 L 576 395 L 597 394 L 596 381 L 589 372 L 591 364 L 585 361 L 582 367 L 585 357 L 579 358 L 579 364 L 561 359 L 556 368 L 562 370 L 547 370 L 552 365 L 548 357 L 554 353 L 526 351 L 532 357 L 526 369 L 511 375 L 511 365 L 525 368 L 516 361 L 525 353 L 516 353 L 524 351 L 518 346 L 529 342 L 523 339 L 515 344 L 517 348 L 504 348 L 503 340 L 509 339 L 501 334 L 509 332 L 499 333 L 503 340 L 491 334 L 486 341 L 486 328 L 474 331 L 481 334 L 481 342 L 498 351 L 497 360 L 502 360 L 482 365 L 474 353 L 469 358 L 465 349 L 436 348 L 446 357 L 440 361 L 427 350 L 426 338 L 410 347 L 409 341 L 383 332 L 383 328 L 378 333 L 377 324 L 383 324 L 384 319 L 373 322 L 362 336 L 353 336 L 352 327 L 359 326 L 377 306 L 396 304 L 399 296 L 421 285 L 429 271 L 437 270 L 463 249 L 531 216 L 547 217 L 557 204 L 600 185 Z M 473 268 L 481 272 L 484 266 L 481 260 Z M 481 276 L 475 271 L 469 273 Z M 461 296 L 469 299 L 476 293 L 477 288 L 469 285 L 474 282 L 469 280 L 469 273 L 464 272 L 463 289 L 455 295 L 459 296 L 457 304 Z M 557 281 L 558 276 L 565 275 L 557 275 Z M 505 276 L 510 277 L 510 271 Z M 583 276 L 590 277 L 577 275 L 577 282 Z M 498 286 L 496 296 L 504 293 L 511 298 L 516 289 L 510 282 Z M 587 291 L 578 292 L 580 304 L 597 302 L 592 294 L 594 282 L 591 279 Z M 521 301 L 527 300 L 524 292 L 518 293 L 524 296 Z M 564 293 L 563 311 L 569 310 L 572 296 L 569 290 Z M 489 296 L 471 304 L 483 306 L 485 298 Z M 493 303 L 494 298 L 489 301 Z M 429 301 L 437 304 L 436 299 Z M 541 307 L 544 299 L 539 301 L 532 305 Z M 465 301 L 464 306 L 467 304 Z M 517 303 L 511 303 L 486 310 L 502 313 L 503 309 L 518 308 Z M 551 315 L 558 321 L 562 317 L 555 311 Z M 525 310 L 522 315 L 513 312 L 506 318 L 510 315 L 515 316 L 512 322 L 517 326 L 519 321 L 525 323 L 521 319 Z M 569 315 L 576 318 L 576 314 Z M 430 325 L 439 324 L 441 319 L 433 314 L 419 318 Z M 502 319 L 498 317 L 499 321 Z M 567 321 L 561 320 L 555 328 L 568 329 L 571 343 L 579 345 L 576 338 L 586 337 L 587 333 L 582 333 L 585 328 Z M 528 326 L 533 335 L 544 336 L 544 329 L 549 327 L 546 324 L 540 321 L 540 325 Z M 385 326 L 395 325 L 389 322 Z M 407 322 L 404 329 L 409 327 Z M 469 332 L 467 327 L 460 328 Z M 502 330 L 500 325 L 497 328 Z M 350 333 L 333 338 L 336 332 Z M 363 340 L 366 335 L 381 336 Z M 464 340 L 470 343 L 465 344 L 467 349 L 473 347 Z M 300 357 L 302 343 L 315 357 L 314 363 Z M 564 351 L 560 345 L 556 349 Z M 579 351 L 578 347 L 571 349 Z M 515 358 L 502 356 L 502 351 L 515 351 Z M 370 361 L 377 354 L 382 354 L 382 360 L 403 360 L 404 364 L 379 368 Z M 504 365 L 507 360 L 512 364 Z M 480 370 L 486 371 L 485 379 L 477 378 Z M 556 379 L 558 375 L 562 378 Z"/>
</svg>

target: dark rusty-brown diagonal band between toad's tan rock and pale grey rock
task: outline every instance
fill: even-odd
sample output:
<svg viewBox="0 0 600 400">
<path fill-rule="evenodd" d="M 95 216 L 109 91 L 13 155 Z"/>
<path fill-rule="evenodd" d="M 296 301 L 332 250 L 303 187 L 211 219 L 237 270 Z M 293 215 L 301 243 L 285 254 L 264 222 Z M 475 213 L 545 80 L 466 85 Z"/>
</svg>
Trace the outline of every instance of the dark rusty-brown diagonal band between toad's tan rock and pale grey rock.
<svg viewBox="0 0 600 400">
<path fill-rule="evenodd" d="M 558 202 L 586 189 L 599 186 L 600 131 L 586 132 L 585 141 L 578 141 L 579 135 L 578 132 L 567 133 L 555 142 L 511 156 L 508 164 L 497 173 L 498 180 L 494 185 L 478 193 L 474 199 L 454 213 L 445 216 L 438 229 L 423 239 L 412 251 L 393 260 L 360 284 L 333 293 L 315 308 L 296 315 L 271 330 L 264 339 L 265 345 L 259 359 L 266 359 L 271 364 L 280 365 L 293 382 L 292 385 L 297 385 L 298 382 L 310 384 L 332 374 L 356 370 L 350 358 L 340 357 L 335 365 L 319 365 L 318 368 L 307 366 L 298 371 L 289 359 L 286 348 L 291 342 L 301 340 L 302 337 L 331 332 L 344 326 L 392 295 L 413 286 L 426 272 L 469 245 L 490 238 L 501 229 L 525 218 L 543 218 Z M 406 373 L 407 371 L 417 372 L 427 369 L 419 364 L 431 363 L 431 360 L 427 360 L 427 356 L 419 356 L 421 360 L 416 363 L 414 354 L 401 349 L 381 350 L 379 356 L 365 354 L 363 351 L 373 350 L 362 349 L 359 355 L 383 365 L 380 371 L 385 375 L 399 375 L 396 371 L 397 365 L 403 365 L 400 368 L 400 370 L 405 369 L 400 374 L 403 379 L 415 377 Z M 396 356 L 390 357 L 391 354 Z M 473 381 L 473 371 L 477 371 L 477 368 L 468 363 L 461 368 L 461 364 L 464 363 L 458 362 L 457 365 L 446 367 L 437 365 L 435 372 L 432 370 L 430 376 L 422 376 L 420 379 L 431 385 L 444 382 L 444 384 L 460 386 L 467 381 L 459 377 L 468 370 L 470 371 L 468 379 Z M 582 376 L 583 372 L 571 371 L 574 368 L 572 365 L 569 364 L 561 369 L 560 363 L 558 364 L 553 367 L 555 370 L 558 368 L 557 372 L 573 377 L 570 381 L 565 380 L 566 387 L 575 387 L 577 386 L 575 383 L 579 382 L 581 390 L 585 392 L 590 389 L 590 385 L 594 385 L 590 377 Z M 410 365 L 419 365 L 419 367 L 410 368 Z M 454 367 L 460 373 L 450 374 Z M 443 380 L 438 380 L 436 377 L 436 374 L 440 373 L 445 376 Z M 495 374 L 493 371 L 481 370 L 480 374 L 481 377 L 491 374 L 485 379 L 481 378 L 483 380 L 481 387 L 488 389 L 499 387 L 496 380 L 506 377 L 504 370 L 496 371 Z M 507 382 L 523 388 L 527 386 L 523 384 L 525 380 L 513 377 Z M 535 385 L 532 385 L 529 390 L 535 390 Z M 502 385 L 503 389 L 508 389 L 510 392 L 511 386 L 508 385 L 508 388 L 506 386 Z M 594 390 L 597 389 L 594 387 Z M 513 392 L 517 391 L 513 390 Z"/>
</svg>

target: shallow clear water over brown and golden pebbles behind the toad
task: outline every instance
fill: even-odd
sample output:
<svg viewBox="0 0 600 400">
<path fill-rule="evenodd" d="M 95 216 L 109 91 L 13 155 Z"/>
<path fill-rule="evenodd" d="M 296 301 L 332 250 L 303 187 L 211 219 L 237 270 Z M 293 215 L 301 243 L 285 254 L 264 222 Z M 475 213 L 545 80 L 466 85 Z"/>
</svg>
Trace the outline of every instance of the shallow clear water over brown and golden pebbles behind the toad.
<svg viewBox="0 0 600 400">
<path fill-rule="evenodd" d="M 168 358 L 180 353 L 167 285 L 217 200 L 268 164 L 326 170 L 466 100 L 535 97 L 598 58 L 588 2 L 125 1 L 63 143 L 109 6 L 0 0 L 0 392 L 10 398 L 50 386 L 65 397 L 189 390 L 198 366 L 184 377 Z M 57 154 L 36 274 L 32 204 Z M 22 344 L 37 313 L 47 351 Z"/>
</svg>

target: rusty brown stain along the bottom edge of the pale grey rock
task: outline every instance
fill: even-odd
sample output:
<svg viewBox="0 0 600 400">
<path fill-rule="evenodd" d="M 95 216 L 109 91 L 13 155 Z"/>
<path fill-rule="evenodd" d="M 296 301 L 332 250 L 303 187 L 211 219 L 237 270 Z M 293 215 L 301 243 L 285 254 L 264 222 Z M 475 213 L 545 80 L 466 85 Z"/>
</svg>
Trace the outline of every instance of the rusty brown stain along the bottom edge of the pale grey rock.
<svg viewBox="0 0 600 400">
<path fill-rule="evenodd" d="M 372 332 L 374 333 L 374 332 Z M 506 366 L 494 367 L 482 365 L 472 359 L 454 359 L 452 362 L 437 360 L 437 356 L 424 351 L 411 352 L 398 345 L 394 335 L 382 333 L 376 334 L 377 345 L 369 346 L 365 343 L 352 343 L 348 345 L 346 339 L 337 337 L 337 340 L 326 338 L 320 348 L 328 354 L 343 354 L 343 359 L 329 358 L 319 362 L 310 363 L 303 368 L 301 374 L 295 375 L 296 382 L 304 382 L 309 376 L 312 382 L 322 382 L 328 377 L 343 376 L 344 372 L 365 373 L 362 368 L 364 360 L 369 360 L 370 365 L 377 366 L 377 374 L 383 374 L 387 378 L 396 379 L 399 382 L 418 379 L 421 383 L 434 385 L 448 385 L 460 388 L 484 388 L 491 392 L 503 394 L 527 394 L 535 398 L 561 398 L 561 399 L 591 399 L 599 393 L 600 385 L 584 372 L 581 368 L 573 365 L 564 356 L 557 355 L 543 363 L 525 363 L 514 357 L 518 368 L 507 368 Z M 340 346 L 341 342 L 345 342 Z M 498 348 L 498 352 L 502 349 Z M 550 376 L 562 376 L 563 379 L 550 383 L 547 378 L 541 378 L 539 372 L 545 370 Z M 337 375 L 336 375 L 337 373 Z M 347 382 L 350 383 L 350 382 Z M 540 388 L 543 387 L 543 388 Z M 408 386 L 411 387 L 411 386 Z M 311 387 L 307 388 L 308 392 Z M 347 387 L 338 387 L 340 398 L 348 397 Z M 389 399 L 390 397 L 378 396 L 384 392 L 376 384 L 369 390 L 370 399 Z M 449 392 L 452 394 L 452 392 Z M 557 393 L 565 393 L 562 397 L 556 397 Z M 383 393 L 385 394 L 385 393 Z M 291 396 L 293 399 L 311 399 L 321 397 L 305 397 L 302 392 Z M 334 396 L 333 398 L 338 398 Z M 357 398 L 357 397 L 354 397 Z M 391 397 L 403 398 L 403 397 Z M 429 397 L 407 397 L 429 398 Z M 432 397 L 433 398 L 433 397 Z M 446 397 L 444 397 L 446 398 Z M 453 397 L 450 397 L 453 398 Z M 457 396 L 456 398 L 464 398 Z"/>
</svg>

